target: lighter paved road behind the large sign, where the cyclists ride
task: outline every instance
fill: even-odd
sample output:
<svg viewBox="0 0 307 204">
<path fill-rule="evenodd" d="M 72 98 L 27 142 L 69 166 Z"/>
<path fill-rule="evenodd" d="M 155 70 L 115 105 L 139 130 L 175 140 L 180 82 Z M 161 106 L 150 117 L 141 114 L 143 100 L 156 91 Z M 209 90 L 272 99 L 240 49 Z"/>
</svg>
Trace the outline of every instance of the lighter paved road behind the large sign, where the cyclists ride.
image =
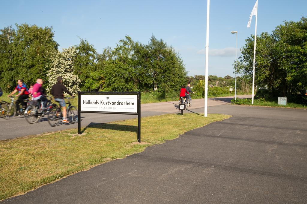
<svg viewBox="0 0 307 204">
<path fill-rule="evenodd" d="M 251 97 L 251 95 L 243 95 L 240 97 Z M 222 104 L 230 103 L 231 97 L 223 97 L 223 98 L 210 98 L 208 100 L 208 106 L 217 106 Z M 192 109 L 204 107 L 204 99 L 195 99 L 193 100 Z M 141 116 L 152 116 L 159 115 L 164 113 L 178 113 L 178 101 L 173 102 L 160 102 L 160 103 L 148 103 L 141 105 Z M 130 118 L 134 118 L 137 116 L 133 115 L 118 115 L 118 114 L 89 114 L 82 113 L 82 122 L 81 126 L 87 126 L 91 122 L 95 123 L 107 123 L 111 121 L 120 121 L 126 120 Z M 14 117 L 10 120 L 5 120 L 4 118 L 0 119 L 0 140 L 2 139 L 10 139 L 15 137 L 21 137 L 26 135 L 35 135 L 41 134 L 45 132 L 54 132 L 58 130 L 64 130 L 69 128 L 77 128 L 77 124 L 62 124 L 57 127 L 51 127 L 47 122 L 47 118 L 44 117 L 36 124 L 29 124 L 25 121 L 23 116 Z"/>
</svg>

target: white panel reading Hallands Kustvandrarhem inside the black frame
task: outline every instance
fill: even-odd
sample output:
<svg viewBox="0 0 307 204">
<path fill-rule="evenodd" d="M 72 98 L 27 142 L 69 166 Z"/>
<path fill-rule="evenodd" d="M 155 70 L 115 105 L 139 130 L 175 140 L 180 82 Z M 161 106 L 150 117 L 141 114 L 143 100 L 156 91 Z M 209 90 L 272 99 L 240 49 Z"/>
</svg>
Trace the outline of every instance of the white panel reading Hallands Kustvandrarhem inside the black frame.
<svg viewBox="0 0 307 204">
<path fill-rule="evenodd" d="M 80 95 L 80 111 L 138 113 L 138 95 Z"/>
</svg>

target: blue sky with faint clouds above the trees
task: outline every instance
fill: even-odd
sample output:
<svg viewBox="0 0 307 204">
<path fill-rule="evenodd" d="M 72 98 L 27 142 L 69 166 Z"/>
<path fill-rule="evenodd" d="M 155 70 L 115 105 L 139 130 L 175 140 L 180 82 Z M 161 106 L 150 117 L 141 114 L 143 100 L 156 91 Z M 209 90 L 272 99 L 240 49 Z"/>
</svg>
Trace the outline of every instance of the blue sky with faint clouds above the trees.
<svg viewBox="0 0 307 204">
<path fill-rule="evenodd" d="M 235 35 L 238 48 L 255 33 L 247 22 L 256 0 L 211 0 L 209 28 L 209 75 L 232 75 Z M 257 34 L 271 32 L 284 20 L 307 17 L 306 0 L 258 1 Z M 207 1 L 117 0 L 117 1 L 1 1 L 0 28 L 15 23 L 52 26 L 59 49 L 87 39 L 102 50 L 125 35 L 148 43 L 151 35 L 163 39 L 180 54 L 189 76 L 204 75 Z"/>
</svg>

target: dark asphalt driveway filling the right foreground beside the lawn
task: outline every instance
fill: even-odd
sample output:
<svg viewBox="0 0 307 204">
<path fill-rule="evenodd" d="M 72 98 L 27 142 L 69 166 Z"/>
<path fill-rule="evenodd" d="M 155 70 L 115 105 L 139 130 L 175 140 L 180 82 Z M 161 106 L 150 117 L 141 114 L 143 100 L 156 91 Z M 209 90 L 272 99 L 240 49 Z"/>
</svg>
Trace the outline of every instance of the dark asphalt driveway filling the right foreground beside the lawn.
<svg viewBox="0 0 307 204">
<path fill-rule="evenodd" d="M 307 110 L 221 105 L 208 111 L 233 117 L 4 203 L 306 202 Z"/>
</svg>

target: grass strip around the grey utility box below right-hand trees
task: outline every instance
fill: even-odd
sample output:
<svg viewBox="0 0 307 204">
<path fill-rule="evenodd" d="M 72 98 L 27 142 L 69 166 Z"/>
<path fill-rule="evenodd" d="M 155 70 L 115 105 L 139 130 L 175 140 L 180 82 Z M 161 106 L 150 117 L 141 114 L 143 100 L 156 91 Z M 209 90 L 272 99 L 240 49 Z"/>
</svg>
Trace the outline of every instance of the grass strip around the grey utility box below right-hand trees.
<svg viewBox="0 0 307 204">
<path fill-rule="evenodd" d="M 250 106 L 270 106 L 270 107 L 284 107 L 284 108 L 303 108 L 306 109 L 306 105 L 302 104 L 297 104 L 297 103 L 289 103 L 287 102 L 286 106 L 283 105 L 278 105 L 277 101 L 264 101 L 261 99 L 254 99 L 254 104 L 251 104 L 251 98 L 246 98 L 246 99 L 237 99 L 237 102 L 233 102 L 233 104 L 238 104 L 238 105 L 250 105 Z"/>
</svg>

